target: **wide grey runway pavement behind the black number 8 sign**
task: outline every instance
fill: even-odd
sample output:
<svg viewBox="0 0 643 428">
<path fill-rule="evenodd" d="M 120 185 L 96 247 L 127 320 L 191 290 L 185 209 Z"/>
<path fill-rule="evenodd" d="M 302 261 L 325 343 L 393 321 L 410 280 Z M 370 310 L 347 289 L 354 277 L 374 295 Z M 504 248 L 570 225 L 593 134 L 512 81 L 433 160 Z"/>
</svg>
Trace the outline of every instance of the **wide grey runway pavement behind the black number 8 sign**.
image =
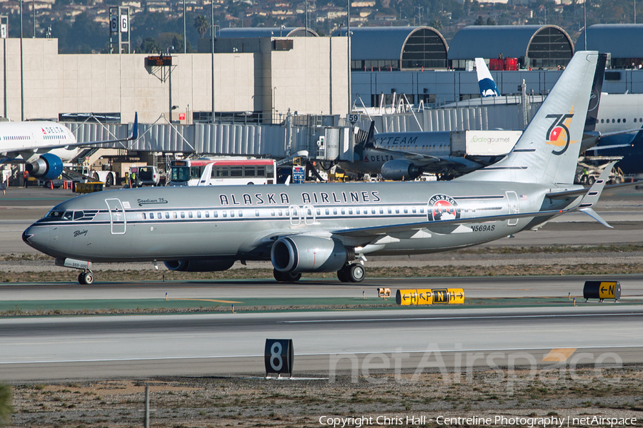
<svg viewBox="0 0 643 428">
<path fill-rule="evenodd" d="M 299 376 L 623 365 L 643 360 L 642 317 L 612 306 L 14 318 L 0 320 L 0 371 L 11 382 L 261 376 L 266 338 L 293 340 Z"/>
</svg>

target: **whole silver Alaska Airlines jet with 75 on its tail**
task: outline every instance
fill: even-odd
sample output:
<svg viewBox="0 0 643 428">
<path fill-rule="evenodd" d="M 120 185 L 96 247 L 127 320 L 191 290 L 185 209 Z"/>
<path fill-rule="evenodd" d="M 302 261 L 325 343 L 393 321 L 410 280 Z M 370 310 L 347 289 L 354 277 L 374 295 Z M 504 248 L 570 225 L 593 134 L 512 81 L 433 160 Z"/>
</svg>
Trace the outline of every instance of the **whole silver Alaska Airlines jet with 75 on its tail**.
<svg viewBox="0 0 643 428">
<path fill-rule="evenodd" d="M 109 190 L 56 205 L 22 238 L 81 283 L 92 262 L 196 272 L 235 260 L 271 260 L 279 281 L 337 271 L 359 282 L 368 255 L 455 250 L 574 210 L 607 225 L 592 206 L 609 168 L 589 190 L 573 184 L 598 58 L 574 54 L 512 151 L 452 181 Z"/>
</svg>

